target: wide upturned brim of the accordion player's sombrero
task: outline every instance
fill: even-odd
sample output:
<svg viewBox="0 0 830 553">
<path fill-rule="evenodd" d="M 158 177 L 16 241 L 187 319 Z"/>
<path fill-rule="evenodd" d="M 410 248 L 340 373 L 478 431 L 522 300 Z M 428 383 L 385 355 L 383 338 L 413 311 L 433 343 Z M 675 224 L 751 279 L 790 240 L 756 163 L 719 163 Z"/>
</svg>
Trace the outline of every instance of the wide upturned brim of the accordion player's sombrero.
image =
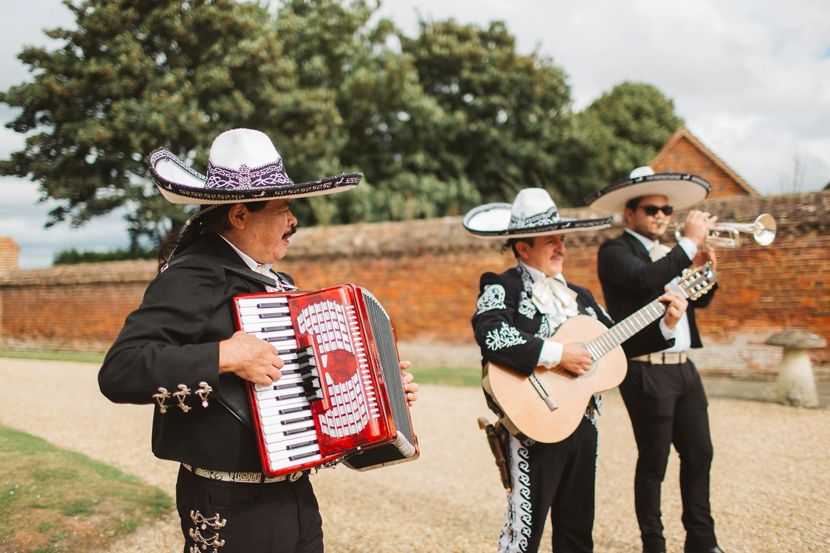
<svg viewBox="0 0 830 553">
<path fill-rule="evenodd" d="M 166 148 L 150 154 L 149 170 L 156 186 L 176 204 L 222 204 L 321 196 L 350 190 L 363 178 L 359 172 L 342 173 L 312 182 L 291 182 L 244 189 L 207 187 L 207 177 L 188 167 Z"/>
</svg>

